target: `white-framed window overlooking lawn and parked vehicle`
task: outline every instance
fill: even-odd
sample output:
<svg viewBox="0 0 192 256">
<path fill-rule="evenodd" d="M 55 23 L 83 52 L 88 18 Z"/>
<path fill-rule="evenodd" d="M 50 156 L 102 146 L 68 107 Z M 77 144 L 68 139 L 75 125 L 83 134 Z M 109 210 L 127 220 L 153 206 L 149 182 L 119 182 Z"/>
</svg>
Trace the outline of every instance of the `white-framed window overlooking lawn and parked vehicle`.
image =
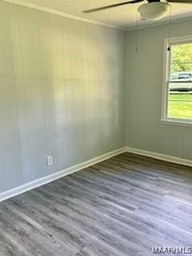
<svg viewBox="0 0 192 256">
<path fill-rule="evenodd" d="M 192 125 L 192 36 L 166 39 L 164 69 L 162 121 Z"/>
</svg>

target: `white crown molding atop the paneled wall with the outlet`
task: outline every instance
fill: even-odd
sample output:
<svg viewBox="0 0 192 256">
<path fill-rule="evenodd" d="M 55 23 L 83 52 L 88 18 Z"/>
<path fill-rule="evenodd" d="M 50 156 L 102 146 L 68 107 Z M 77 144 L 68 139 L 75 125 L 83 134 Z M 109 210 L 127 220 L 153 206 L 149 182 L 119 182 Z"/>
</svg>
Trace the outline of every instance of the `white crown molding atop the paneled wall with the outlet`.
<svg viewBox="0 0 192 256">
<path fill-rule="evenodd" d="M 126 31 L 126 29 L 122 28 L 121 26 L 114 26 L 114 25 L 110 25 L 110 24 L 105 23 L 105 22 L 98 22 L 98 21 L 95 21 L 95 20 L 92 20 L 92 19 L 89 19 L 89 18 L 78 17 L 78 16 L 75 16 L 73 14 L 66 14 L 66 13 L 64 13 L 62 11 L 59 11 L 59 10 L 54 10 L 54 9 L 47 8 L 47 7 L 44 7 L 44 6 L 38 6 L 36 4 L 30 3 L 30 2 L 25 2 L 25 1 L 22 1 L 22 0 L 3 0 L 3 1 L 14 3 L 14 4 L 19 5 L 19 6 L 26 6 L 26 7 L 32 8 L 32 9 L 36 9 L 36 10 L 46 11 L 47 13 L 50 13 L 50 14 L 56 14 L 56 15 L 59 15 L 59 16 L 65 17 L 65 18 L 71 18 L 71 19 L 75 19 L 75 20 L 78 20 L 78 21 L 81 21 L 81 22 L 88 22 L 88 23 L 91 23 L 91 24 L 94 24 L 94 25 L 107 26 L 107 27 L 110 27 L 110 28 L 113 28 L 113 29 Z"/>
</svg>

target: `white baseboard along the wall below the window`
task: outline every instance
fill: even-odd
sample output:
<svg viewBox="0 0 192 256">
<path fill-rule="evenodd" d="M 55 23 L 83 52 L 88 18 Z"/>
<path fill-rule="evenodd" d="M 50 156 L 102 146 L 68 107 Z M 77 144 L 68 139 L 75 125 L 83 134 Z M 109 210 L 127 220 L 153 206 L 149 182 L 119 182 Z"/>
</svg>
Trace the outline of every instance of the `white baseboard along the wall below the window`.
<svg viewBox="0 0 192 256">
<path fill-rule="evenodd" d="M 182 166 L 192 166 L 192 160 L 184 159 L 184 158 L 177 158 L 168 154 L 159 154 L 147 150 L 139 150 L 132 147 L 126 147 L 126 152 L 133 153 L 133 154 L 140 154 L 146 157 L 159 159 L 166 162 L 174 162 Z"/>
</svg>

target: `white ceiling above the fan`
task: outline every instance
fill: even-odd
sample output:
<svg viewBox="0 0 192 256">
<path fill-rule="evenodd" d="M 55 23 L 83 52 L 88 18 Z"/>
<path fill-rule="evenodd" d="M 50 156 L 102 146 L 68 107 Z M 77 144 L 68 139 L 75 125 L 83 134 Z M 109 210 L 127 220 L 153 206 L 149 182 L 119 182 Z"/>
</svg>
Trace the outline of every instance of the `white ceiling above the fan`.
<svg viewBox="0 0 192 256">
<path fill-rule="evenodd" d="M 52 10 L 61 11 L 66 14 L 72 14 L 78 17 L 92 19 L 98 22 L 109 23 L 113 26 L 121 26 L 130 29 L 136 25 L 137 8 L 142 3 L 119 6 L 110 10 L 102 10 L 91 14 L 83 14 L 82 10 L 107 6 L 127 0 L 20 0 L 28 4 L 43 6 Z M 162 0 L 166 1 L 166 0 Z M 13 1 L 14 2 L 14 1 Z M 17 2 L 17 1 L 16 1 Z M 173 19 L 191 18 L 192 4 L 171 4 Z M 160 22 L 165 22 L 168 17 Z M 156 22 L 139 21 L 139 26 L 147 26 Z"/>
</svg>

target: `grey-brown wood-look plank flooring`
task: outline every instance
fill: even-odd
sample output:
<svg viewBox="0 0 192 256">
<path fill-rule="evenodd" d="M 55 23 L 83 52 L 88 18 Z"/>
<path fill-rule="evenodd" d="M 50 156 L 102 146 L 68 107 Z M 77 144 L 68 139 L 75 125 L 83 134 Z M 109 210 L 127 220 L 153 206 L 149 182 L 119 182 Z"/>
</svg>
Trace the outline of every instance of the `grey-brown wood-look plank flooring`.
<svg viewBox="0 0 192 256">
<path fill-rule="evenodd" d="M 192 246 L 192 168 L 121 154 L 0 203 L 1 256 Z"/>
</svg>

